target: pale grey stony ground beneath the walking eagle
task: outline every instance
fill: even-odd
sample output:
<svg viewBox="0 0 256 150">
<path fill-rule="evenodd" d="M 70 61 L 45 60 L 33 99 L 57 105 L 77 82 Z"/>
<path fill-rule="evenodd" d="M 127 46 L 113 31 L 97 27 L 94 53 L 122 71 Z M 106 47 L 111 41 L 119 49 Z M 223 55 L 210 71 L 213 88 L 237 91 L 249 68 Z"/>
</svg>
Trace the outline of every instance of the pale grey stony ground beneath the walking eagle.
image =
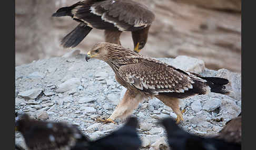
<svg viewBox="0 0 256 150">
<path fill-rule="evenodd" d="M 15 110 L 28 113 L 36 119 L 65 121 L 76 124 L 92 139 L 99 138 L 121 127 L 117 124 L 99 123 L 95 117 L 108 117 L 121 100 L 125 89 L 114 79 L 114 72 L 103 61 L 85 61 L 79 50 L 63 57 L 33 61 L 15 67 Z M 223 77 L 230 81 L 230 95 L 210 93 L 181 100 L 185 106 L 184 130 L 200 135 L 218 133 L 225 122 L 241 112 L 241 74 L 226 69 L 213 71 L 198 59 L 179 56 L 161 58 L 177 68 L 194 71 L 207 77 Z M 182 63 L 181 63 L 182 62 Z M 141 149 L 168 149 L 165 131 L 157 124 L 167 116 L 176 117 L 160 100 L 144 101 L 134 110 L 140 122 L 137 131 L 143 141 Z M 25 147 L 23 137 L 15 133 L 15 141 Z"/>
</svg>

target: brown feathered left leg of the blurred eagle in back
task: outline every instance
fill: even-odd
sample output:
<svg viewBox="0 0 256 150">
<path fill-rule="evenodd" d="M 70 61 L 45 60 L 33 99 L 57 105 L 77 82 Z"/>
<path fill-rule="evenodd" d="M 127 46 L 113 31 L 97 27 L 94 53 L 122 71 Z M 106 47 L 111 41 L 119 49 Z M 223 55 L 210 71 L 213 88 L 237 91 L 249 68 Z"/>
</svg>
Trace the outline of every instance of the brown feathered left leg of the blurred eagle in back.
<svg viewBox="0 0 256 150">
<path fill-rule="evenodd" d="M 120 36 L 122 31 L 119 30 L 105 30 L 105 42 L 121 45 Z"/>
</svg>

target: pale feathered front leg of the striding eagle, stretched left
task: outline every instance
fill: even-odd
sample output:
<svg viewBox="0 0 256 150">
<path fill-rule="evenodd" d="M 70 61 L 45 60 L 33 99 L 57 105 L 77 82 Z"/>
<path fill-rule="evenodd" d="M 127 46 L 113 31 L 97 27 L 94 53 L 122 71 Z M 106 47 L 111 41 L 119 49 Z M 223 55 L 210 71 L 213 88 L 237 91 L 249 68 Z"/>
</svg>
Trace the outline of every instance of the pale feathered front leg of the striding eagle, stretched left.
<svg viewBox="0 0 256 150">
<path fill-rule="evenodd" d="M 106 121 L 114 121 L 117 118 L 125 118 L 130 115 L 134 109 L 137 108 L 140 101 L 143 100 L 143 95 L 126 90 L 122 101 L 116 106 L 112 115 Z"/>
</svg>

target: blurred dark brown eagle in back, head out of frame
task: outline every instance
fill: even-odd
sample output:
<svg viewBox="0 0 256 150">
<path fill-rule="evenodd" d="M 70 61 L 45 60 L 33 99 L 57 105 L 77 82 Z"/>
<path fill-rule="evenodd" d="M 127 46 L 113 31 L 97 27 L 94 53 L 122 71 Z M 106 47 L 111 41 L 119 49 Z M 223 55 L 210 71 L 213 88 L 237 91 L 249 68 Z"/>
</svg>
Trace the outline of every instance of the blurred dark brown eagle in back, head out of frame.
<svg viewBox="0 0 256 150">
<path fill-rule="evenodd" d="M 61 45 L 77 46 L 93 28 L 105 30 L 105 41 L 120 43 L 123 31 L 131 31 L 134 51 L 139 52 L 147 42 L 149 28 L 155 18 L 145 5 L 131 0 L 87 0 L 62 7 L 52 16 L 71 16 L 80 24 L 66 35 Z"/>
</svg>

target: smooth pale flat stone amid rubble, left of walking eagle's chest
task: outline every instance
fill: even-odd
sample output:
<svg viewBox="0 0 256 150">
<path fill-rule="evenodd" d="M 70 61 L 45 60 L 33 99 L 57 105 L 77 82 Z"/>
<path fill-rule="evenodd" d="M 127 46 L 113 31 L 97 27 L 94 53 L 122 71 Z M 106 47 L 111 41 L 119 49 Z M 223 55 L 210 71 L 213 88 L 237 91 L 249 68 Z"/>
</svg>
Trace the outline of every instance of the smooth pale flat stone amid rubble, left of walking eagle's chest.
<svg viewBox="0 0 256 150">
<path fill-rule="evenodd" d="M 72 89 L 76 89 L 81 85 L 80 79 L 79 78 L 71 78 L 60 85 L 58 85 L 58 89 L 56 89 L 56 92 L 62 93 L 66 92 Z"/>
</svg>

